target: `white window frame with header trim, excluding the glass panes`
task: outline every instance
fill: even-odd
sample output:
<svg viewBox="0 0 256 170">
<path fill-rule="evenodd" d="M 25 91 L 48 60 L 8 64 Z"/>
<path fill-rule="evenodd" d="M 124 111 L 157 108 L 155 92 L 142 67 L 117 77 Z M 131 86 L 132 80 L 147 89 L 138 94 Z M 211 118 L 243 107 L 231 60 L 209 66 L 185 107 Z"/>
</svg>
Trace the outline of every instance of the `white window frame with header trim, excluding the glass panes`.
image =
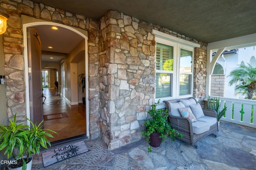
<svg viewBox="0 0 256 170">
<path fill-rule="evenodd" d="M 200 47 L 200 44 L 189 42 L 186 40 L 183 40 L 181 38 L 177 38 L 174 36 L 171 36 L 169 34 L 165 34 L 163 32 L 152 30 L 152 34 L 155 35 L 156 43 L 161 43 L 164 45 L 170 45 L 173 47 L 173 86 L 172 86 L 172 97 L 160 97 L 156 99 L 155 96 L 155 102 L 157 103 L 158 99 L 160 99 L 160 105 L 158 105 L 158 108 L 164 108 L 165 105 L 162 101 L 164 100 L 170 100 L 170 99 L 180 99 L 180 98 L 186 98 L 186 97 L 193 97 L 193 81 L 194 81 L 194 48 Z M 179 95 L 180 93 L 180 82 L 179 82 L 179 76 L 180 76 L 180 49 L 185 49 L 188 51 L 192 51 L 192 80 L 191 80 L 191 94 L 189 95 Z M 156 55 L 155 55 L 156 57 Z"/>
</svg>

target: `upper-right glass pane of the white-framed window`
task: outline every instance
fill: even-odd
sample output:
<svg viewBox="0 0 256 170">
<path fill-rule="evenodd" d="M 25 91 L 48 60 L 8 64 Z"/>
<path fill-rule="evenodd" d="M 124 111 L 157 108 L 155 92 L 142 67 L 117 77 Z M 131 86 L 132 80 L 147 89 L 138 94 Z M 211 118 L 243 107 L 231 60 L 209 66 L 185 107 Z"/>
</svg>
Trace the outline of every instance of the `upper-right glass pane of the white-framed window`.
<svg viewBox="0 0 256 170">
<path fill-rule="evenodd" d="M 192 51 L 180 49 L 180 73 L 192 73 Z"/>
</svg>

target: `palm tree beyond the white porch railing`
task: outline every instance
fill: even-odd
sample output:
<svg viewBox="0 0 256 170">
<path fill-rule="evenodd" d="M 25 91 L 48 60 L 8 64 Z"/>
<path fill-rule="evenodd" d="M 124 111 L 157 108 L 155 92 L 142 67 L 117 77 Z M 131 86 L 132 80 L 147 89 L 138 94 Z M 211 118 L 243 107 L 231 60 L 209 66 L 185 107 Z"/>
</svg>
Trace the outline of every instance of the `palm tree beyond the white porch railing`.
<svg viewBox="0 0 256 170">
<path fill-rule="evenodd" d="M 242 93 L 243 95 L 247 95 L 248 99 L 252 99 L 252 97 L 256 94 L 256 68 L 252 67 L 252 65 L 239 65 L 238 68 L 234 69 L 230 72 L 228 77 L 232 77 L 229 81 L 228 85 L 236 85 L 236 90 L 239 90 L 238 93 Z"/>
</svg>

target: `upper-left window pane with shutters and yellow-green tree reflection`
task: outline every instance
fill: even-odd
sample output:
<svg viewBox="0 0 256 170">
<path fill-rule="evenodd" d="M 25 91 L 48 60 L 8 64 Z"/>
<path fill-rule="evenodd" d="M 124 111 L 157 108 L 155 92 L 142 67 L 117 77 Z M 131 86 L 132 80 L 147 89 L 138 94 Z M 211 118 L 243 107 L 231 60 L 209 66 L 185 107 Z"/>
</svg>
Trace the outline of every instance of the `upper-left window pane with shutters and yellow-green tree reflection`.
<svg viewBox="0 0 256 170">
<path fill-rule="evenodd" d="M 156 69 L 173 71 L 173 47 L 156 43 Z"/>
</svg>

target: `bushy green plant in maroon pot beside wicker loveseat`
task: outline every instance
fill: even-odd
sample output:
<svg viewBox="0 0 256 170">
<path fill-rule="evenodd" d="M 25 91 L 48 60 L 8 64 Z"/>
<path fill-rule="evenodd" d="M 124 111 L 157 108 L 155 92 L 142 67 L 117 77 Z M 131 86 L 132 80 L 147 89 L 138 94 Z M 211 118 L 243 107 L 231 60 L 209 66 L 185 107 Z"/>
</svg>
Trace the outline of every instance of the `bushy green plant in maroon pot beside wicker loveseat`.
<svg viewBox="0 0 256 170">
<path fill-rule="evenodd" d="M 144 122 L 146 130 L 142 132 L 146 136 L 147 142 L 150 144 L 148 146 L 148 152 L 151 152 L 151 146 L 159 147 L 161 142 L 170 136 L 172 140 L 175 140 L 175 137 L 183 137 L 182 134 L 179 134 L 174 128 L 171 127 L 168 122 L 168 110 L 163 113 L 162 109 L 156 109 L 156 106 L 159 105 L 160 99 L 157 103 L 151 105 L 151 109 L 148 111 L 148 114 L 152 119 L 148 119 Z"/>
</svg>

